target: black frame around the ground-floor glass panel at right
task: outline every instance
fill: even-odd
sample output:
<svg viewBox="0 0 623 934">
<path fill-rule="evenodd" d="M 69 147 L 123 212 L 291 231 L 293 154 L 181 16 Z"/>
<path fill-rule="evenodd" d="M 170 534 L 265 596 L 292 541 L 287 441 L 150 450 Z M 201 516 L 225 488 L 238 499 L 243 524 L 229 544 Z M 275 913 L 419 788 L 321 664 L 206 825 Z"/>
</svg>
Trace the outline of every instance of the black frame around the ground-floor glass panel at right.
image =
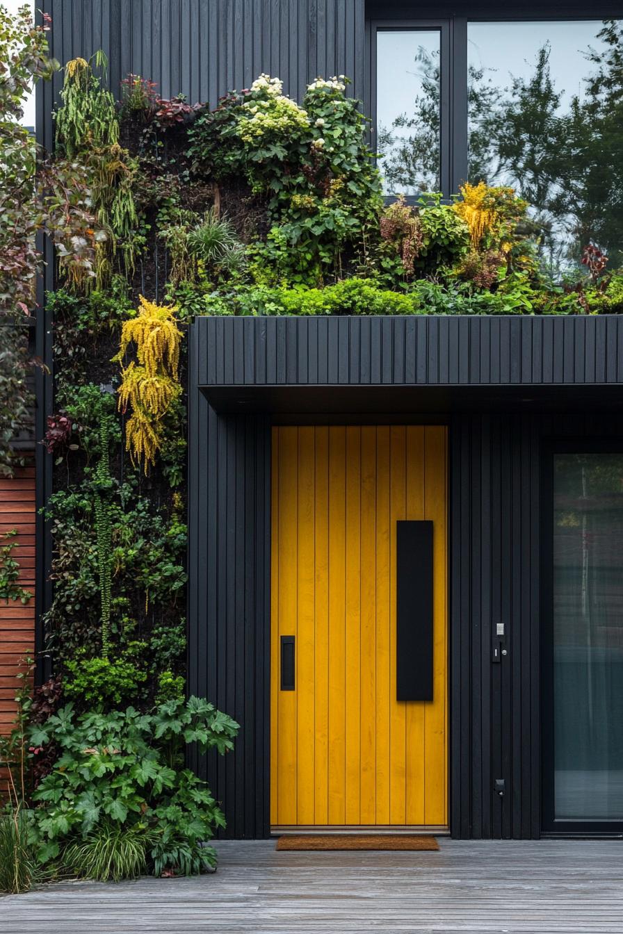
<svg viewBox="0 0 623 934">
<path fill-rule="evenodd" d="M 541 829 L 543 836 L 620 837 L 623 819 L 556 820 L 554 799 L 554 457 L 623 453 L 620 436 L 544 440 L 541 458 Z"/>
</svg>

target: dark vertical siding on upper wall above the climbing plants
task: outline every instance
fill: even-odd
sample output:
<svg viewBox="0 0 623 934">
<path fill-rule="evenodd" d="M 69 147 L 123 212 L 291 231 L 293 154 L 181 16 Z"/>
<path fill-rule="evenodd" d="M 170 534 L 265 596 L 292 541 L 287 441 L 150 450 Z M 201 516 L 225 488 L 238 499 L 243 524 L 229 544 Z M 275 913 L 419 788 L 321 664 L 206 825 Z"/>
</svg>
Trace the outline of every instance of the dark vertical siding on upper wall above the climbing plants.
<svg viewBox="0 0 623 934">
<path fill-rule="evenodd" d="M 364 0 L 42 0 L 52 18 L 52 53 L 64 64 L 103 49 L 113 92 L 129 73 L 157 81 L 163 97 L 181 92 L 209 102 L 248 87 L 262 72 L 301 100 L 318 75 L 345 74 L 364 94 Z M 42 88 L 44 142 L 63 82 Z"/>
</svg>

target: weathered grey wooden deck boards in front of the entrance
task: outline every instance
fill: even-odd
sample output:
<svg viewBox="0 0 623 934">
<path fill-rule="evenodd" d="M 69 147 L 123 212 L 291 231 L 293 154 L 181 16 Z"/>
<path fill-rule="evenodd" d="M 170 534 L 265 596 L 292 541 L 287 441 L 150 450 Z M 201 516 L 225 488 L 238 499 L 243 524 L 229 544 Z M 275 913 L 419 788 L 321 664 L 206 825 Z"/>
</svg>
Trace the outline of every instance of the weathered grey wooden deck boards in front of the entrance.
<svg viewBox="0 0 623 934">
<path fill-rule="evenodd" d="M 219 842 L 198 879 L 58 884 L 0 899 L 3 934 L 623 932 L 623 842 L 460 842 L 276 853 Z"/>
</svg>

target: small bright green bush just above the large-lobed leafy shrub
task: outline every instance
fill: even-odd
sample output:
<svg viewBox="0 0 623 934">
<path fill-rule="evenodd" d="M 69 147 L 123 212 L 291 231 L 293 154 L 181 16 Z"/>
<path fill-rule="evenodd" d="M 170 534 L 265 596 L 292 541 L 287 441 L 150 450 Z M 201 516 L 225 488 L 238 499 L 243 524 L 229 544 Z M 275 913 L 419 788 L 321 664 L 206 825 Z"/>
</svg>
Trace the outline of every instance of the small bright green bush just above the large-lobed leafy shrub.
<svg viewBox="0 0 623 934">
<path fill-rule="evenodd" d="M 147 681 L 147 672 L 139 667 L 146 647 L 142 642 L 130 642 L 119 658 L 88 658 L 86 650 L 78 651 L 65 661 L 65 697 L 93 710 L 136 701 L 140 686 Z"/>
</svg>

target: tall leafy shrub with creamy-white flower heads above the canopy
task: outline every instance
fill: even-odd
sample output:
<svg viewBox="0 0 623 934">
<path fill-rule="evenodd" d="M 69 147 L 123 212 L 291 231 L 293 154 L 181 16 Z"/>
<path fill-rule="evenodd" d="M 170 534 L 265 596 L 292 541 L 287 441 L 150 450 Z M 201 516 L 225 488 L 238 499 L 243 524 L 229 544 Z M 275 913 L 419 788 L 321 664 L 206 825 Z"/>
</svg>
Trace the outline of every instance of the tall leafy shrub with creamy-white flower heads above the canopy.
<svg viewBox="0 0 623 934">
<path fill-rule="evenodd" d="M 369 262 L 382 206 L 358 102 L 341 78 L 317 79 L 303 106 L 262 75 L 196 121 L 191 156 L 217 178 L 242 174 L 267 201 L 269 231 L 249 251 L 251 273 L 311 285 Z"/>
</svg>

